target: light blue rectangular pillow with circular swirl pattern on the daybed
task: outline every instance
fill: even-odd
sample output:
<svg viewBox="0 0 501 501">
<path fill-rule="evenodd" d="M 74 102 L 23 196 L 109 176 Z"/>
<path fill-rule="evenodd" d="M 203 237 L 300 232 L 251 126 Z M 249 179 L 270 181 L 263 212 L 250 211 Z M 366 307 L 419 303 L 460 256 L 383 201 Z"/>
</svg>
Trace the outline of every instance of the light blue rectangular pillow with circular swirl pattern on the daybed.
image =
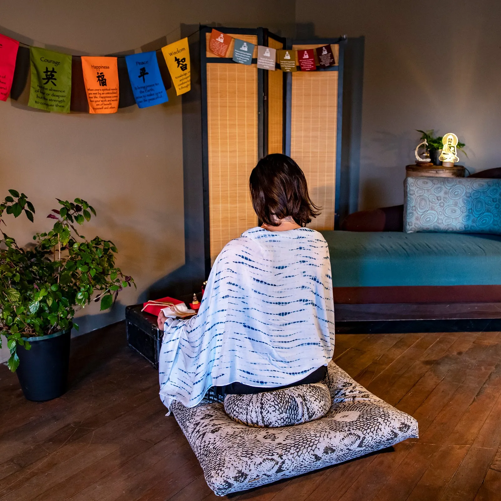
<svg viewBox="0 0 501 501">
<path fill-rule="evenodd" d="M 407 177 L 404 231 L 501 234 L 501 179 Z"/>
</svg>

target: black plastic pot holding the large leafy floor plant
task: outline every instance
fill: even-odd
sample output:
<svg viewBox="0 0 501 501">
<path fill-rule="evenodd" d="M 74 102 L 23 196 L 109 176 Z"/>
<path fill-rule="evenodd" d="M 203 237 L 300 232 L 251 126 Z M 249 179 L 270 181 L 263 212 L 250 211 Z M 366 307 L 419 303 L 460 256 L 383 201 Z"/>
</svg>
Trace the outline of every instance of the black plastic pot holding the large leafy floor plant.
<svg viewBox="0 0 501 501">
<path fill-rule="evenodd" d="M 28 338 L 30 350 L 18 345 L 16 371 L 28 400 L 60 397 L 67 389 L 71 328 L 49 336 Z"/>
</svg>

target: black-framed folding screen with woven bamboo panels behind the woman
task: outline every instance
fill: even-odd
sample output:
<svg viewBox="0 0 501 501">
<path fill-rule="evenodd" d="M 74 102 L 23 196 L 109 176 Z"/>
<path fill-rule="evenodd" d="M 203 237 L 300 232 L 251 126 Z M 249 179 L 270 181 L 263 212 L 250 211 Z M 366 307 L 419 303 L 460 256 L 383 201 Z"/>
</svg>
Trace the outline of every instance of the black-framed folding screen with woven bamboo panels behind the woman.
<svg viewBox="0 0 501 501">
<path fill-rule="evenodd" d="M 322 214 L 309 225 L 333 229 L 339 189 L 340 66 L 336 71 L 283 73 L 257 68 L 257 46 L 315 48 L 272 36 L 267 30 L 219 31 L 255 44 L 251 65 L 209 50 L 210 29 L 201 29 L 202 138 L 204 159 L 205 268 L 222 247 L 258 224 L 248 178 L 259 158 L 287 153 L 305 172 Z M 336 62 L 339 44 L 332 45 Z M 339 71 L 338 71 L 339 70 Z"/>
</svg>

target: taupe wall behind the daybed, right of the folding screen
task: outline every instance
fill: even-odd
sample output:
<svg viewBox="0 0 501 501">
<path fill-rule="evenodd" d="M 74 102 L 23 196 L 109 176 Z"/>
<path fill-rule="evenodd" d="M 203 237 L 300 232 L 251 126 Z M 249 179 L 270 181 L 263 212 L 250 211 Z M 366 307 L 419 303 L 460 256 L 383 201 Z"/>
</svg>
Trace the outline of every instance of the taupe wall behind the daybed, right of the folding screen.
<svg viewBox="0 0 501 501">
<path fill-rule="evenodd" d="M 298 37 L 364 37 L 360 150 L 350 163 L 360 208 L 402 203 L 414 129 L 455 132 L 472 171 L 501 166 L 501 4 L 297 0 L 296 21 Z"/>
</svg>

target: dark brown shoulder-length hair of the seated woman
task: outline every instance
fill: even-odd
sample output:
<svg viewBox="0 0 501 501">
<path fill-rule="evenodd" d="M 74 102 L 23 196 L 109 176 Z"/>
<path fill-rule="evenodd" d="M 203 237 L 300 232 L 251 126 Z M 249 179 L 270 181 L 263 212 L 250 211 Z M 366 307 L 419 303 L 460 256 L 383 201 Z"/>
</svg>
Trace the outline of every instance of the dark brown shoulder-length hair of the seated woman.
<svg viewBox="0 0 501 501">
<path fill-rule="evenodd" d="M 320 214 L 310 199 L 306 177 L 287 155 L 273 153 L 258 162 L 250 173 L 250 199 L 261 221 L 276 226 L 272 216 L 292 216 L 300 226 Z"/>
</svg>

